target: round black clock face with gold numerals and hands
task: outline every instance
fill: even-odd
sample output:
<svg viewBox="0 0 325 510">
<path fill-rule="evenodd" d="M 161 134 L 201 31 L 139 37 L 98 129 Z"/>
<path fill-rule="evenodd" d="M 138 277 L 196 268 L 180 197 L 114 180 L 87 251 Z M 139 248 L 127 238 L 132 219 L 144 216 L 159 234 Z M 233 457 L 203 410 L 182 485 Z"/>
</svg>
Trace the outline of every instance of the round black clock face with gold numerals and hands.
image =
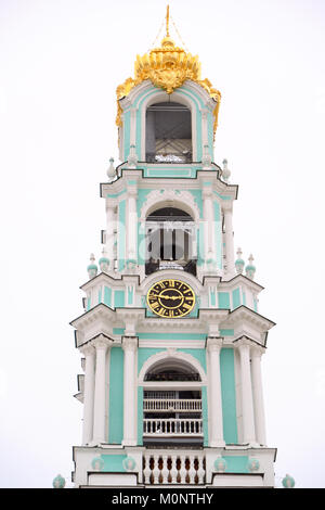
<svg viewBox="0 0 325 510">
<path fill-rule="evenodd" d="M 148 307 L 159 317 L 174 319 L 193 310 L 195 294 L 187 283 L 180 280 L 157 281 L 148 291 Z"/>
</svg>

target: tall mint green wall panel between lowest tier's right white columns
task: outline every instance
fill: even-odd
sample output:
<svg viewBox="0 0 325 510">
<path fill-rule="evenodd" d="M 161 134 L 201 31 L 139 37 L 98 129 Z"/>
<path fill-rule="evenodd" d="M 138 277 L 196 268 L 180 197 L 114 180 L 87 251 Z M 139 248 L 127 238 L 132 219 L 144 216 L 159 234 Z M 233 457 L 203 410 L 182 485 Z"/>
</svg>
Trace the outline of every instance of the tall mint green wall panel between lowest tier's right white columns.
<svg viewBox="0 0 325 510">
<path fill-rule="evenodd" d="M 237 412 L 235 386 L 235 360 L 232 348 L 220 353 L 220 378 L 222 397 L 223 437 L 226 444 L 237 444 Z"/>
</svg>

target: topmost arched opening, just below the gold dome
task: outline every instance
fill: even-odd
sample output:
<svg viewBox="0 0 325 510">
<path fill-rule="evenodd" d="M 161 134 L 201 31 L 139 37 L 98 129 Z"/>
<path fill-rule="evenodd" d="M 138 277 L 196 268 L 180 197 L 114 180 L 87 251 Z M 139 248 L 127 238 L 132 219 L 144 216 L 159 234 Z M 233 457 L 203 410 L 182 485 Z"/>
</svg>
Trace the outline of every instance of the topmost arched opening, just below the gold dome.
<svg viewBox="0 0 325 510">
<path fill-rule="evenodd" d="M 161 102 L 146 110 L 145 161 L 192 162 L 191 110 L 184 104 Z"/>
</svg>

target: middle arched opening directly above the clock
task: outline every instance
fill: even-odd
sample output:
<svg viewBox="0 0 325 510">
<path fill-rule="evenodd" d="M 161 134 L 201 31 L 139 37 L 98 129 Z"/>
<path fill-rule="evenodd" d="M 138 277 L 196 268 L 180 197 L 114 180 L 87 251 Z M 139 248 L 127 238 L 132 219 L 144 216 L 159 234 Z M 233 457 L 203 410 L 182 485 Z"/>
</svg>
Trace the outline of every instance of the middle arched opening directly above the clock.
<svg viewBox="0 0 325 510">
<path fill-rule="evenodd" d="M 177 207 L 162 207 L 146 218 L 145 273 L 180 269 L 196 276 L 196 235 L 192 216 Z"/>
</svg>

